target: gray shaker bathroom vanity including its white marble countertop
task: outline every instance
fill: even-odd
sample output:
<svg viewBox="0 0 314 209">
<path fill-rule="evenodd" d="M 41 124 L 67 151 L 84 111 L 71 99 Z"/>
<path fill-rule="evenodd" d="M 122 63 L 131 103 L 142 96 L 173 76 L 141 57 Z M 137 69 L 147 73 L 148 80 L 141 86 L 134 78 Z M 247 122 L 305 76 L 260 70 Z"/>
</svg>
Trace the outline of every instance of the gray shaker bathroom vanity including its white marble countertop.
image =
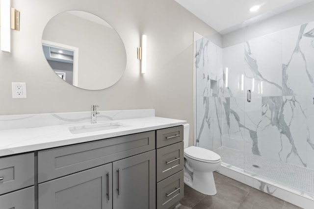
<svg viewBox="0 0 314 209">
<path fill-rule="evenodd" d="M 0 131 L 3 143 L 9 132 L 22 137 L 20 146 L 0 147 L 0 209 L 176 206 L 183 197 L 185 121 L 142 117 L 110 121 L 112 129 L 107 123 L 76 124 L 75 134 L 73 125 Z M 99 130 L 104 124 L 107 130 Z M 4 154 L 9 150 L 15 154 Z"/>
</svg>

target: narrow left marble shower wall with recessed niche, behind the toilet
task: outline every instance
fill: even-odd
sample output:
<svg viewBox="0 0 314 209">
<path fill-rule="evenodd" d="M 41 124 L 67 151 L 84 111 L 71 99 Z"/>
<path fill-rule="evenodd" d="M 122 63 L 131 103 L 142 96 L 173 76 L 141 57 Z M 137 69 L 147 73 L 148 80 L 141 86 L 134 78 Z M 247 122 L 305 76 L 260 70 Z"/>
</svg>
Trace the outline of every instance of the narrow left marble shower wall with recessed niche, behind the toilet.
<svg viewBox="0 0 314 209">
<path fill-rule="evenodd" d="M 222 48 L 206 38 L 196 41 L 196 142 L 214 150 L 222 146 Z"/>
</svg>

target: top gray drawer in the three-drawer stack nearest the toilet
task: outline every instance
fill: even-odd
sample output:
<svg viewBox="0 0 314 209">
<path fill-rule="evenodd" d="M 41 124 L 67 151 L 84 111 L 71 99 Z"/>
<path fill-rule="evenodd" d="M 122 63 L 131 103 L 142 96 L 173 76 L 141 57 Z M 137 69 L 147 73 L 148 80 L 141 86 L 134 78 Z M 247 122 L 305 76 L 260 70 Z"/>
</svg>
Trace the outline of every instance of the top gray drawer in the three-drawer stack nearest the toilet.
<svg viewBox="0 0 314 209">
<path fill-rule="evenodd" d="M 156 131 L 156 148 L 183 141 L 183 126 L 159 129 Z"/>
</svg>

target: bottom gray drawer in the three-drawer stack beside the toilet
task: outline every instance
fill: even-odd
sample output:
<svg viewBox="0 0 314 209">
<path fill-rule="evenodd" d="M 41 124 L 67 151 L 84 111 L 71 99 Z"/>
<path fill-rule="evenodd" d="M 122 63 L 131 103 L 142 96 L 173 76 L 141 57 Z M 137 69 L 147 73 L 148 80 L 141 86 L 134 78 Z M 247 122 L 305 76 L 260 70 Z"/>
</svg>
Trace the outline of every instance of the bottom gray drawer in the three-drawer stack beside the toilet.
<svg viewBox="0 0 314 209">
<path fill-rule="evenodd" d="M 183 198 L 183 170 L 157 183 L 157 209 L 169 209 Z"/>
</svg>

